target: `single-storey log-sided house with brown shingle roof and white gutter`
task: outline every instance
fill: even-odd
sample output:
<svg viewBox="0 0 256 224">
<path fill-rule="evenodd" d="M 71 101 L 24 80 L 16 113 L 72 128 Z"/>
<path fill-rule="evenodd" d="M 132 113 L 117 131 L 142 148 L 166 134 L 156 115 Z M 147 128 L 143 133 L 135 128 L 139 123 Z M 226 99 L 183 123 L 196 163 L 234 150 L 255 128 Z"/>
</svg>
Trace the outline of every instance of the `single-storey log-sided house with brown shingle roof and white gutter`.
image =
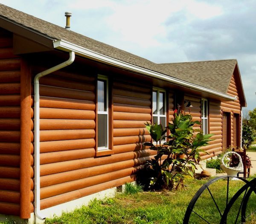
<svg viewBox="0 0 256 224">
<path fill-rule="evenodd" d="M 215 134 L 203 159 L 240 145 L 236 60 L 155 64 L 0 5 L 0 214 L 32 222 L 136 180 L 145 122 L 184 101 Z"/>
</svg>

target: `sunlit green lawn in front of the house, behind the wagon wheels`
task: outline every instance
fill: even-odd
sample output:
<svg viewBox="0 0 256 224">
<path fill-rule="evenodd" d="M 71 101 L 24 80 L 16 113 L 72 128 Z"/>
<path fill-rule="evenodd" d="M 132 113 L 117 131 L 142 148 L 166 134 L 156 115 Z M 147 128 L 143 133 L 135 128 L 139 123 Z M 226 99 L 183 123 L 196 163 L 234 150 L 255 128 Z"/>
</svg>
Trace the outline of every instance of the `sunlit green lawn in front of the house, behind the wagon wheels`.
<svg viewBox="0 0 256 224">
<path fill-rule="evenodd" d="M 182 224 L 186 208 L 195 192 L 207 180 L 186 180 L 186 189 L 163 192 L 138 192 L 119 194 L 115 198 L 91 201 L 71 213 L 47 219 L 46 224 Z M 243 185 L 241 181 L 230 181 L 230 197 Z M 224 210 L 227 182 L 219 180 L 209 186 L 221 211 Z M 256 200 L 253 195 L 253 200 Z M 238 211 L 241 198 L 234 205 L 231 214 Z M 250 205 L 254 205 L 253 201 Z M 256 207 L 256 205 L 254 205 Z M 211 223 L 219 223 L 218 211 L 205 191 L 195 204 L 195 211 Z M 192 222 L 205 223 L 192 215 Z M 228 222 L 229 223 L 229 222 Z M 231 222 L 232 223 L 232 222 Z"/>
</svg>

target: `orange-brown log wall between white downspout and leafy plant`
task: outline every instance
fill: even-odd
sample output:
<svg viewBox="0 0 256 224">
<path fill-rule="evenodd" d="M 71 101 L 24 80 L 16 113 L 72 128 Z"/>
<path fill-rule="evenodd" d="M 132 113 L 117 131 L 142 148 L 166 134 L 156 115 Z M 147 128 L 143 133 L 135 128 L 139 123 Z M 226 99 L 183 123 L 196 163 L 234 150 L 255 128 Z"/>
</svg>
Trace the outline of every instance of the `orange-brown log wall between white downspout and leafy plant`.
<svg viewBox="0 0 256 224">
<path fill-rule="evenodd" d="M 113 81 L 114 154 L 96 157 L 95 84 L 96 75 L 67 70 L 40 79 L 41 209 L 134 181 L 155 153 L 143 145 L 151 88 Z"/>
</svg>

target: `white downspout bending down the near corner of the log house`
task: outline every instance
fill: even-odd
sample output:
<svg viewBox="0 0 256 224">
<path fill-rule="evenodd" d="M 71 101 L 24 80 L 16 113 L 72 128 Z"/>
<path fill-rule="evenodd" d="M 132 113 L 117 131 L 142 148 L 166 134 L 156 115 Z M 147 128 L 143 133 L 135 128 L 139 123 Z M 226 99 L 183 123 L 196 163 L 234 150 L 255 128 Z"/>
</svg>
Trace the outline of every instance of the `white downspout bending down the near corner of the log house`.
<svg viewBox="0 0 256 224">
<path fill-rule="evenodd" d="M 40 209 L 40 105 L 39 105 L 39 79 L 49 73 L 57 71 L 73 63 L 75 52 L 71 51 L 67 61 L 38 73 L 34 79 L 34 156 L 35 156 L 35 216 L 43 220 L 46 216 Z"/>
</svg>

